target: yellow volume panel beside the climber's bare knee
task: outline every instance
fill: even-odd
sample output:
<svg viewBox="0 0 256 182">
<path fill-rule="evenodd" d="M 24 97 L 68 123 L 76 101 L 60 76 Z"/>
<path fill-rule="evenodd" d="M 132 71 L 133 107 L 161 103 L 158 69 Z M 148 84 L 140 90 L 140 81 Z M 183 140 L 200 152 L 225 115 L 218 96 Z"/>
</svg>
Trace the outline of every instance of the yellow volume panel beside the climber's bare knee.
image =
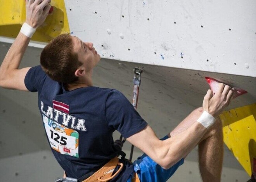
<svg viewBox="0 0 256 182">
<path fill-rule="evenodd" d="M 220 119 L 225 144 L 251 176 L 256 158 L 256 103 L 223 112 Z"/>
</svg>

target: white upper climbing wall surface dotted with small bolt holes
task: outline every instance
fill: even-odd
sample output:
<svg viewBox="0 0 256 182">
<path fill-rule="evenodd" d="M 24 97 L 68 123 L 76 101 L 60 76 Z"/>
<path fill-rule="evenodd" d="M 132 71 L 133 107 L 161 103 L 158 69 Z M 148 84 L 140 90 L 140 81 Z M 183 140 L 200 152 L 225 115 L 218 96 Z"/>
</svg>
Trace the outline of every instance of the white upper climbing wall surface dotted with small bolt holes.
<svg viewBox="0 0 256 182">
<path fill-rule="evenodd" d="M 103 58 L 256 77 L 255 0 L 65 4 L 72 34 Z"/>
</svg>

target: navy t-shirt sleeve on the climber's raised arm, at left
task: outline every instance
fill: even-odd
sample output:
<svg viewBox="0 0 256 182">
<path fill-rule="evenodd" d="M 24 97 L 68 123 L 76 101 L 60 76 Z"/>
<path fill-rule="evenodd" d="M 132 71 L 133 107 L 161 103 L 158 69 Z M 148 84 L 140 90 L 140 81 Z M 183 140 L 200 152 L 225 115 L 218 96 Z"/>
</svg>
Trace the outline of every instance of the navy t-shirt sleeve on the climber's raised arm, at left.
<svg viewBox="0 0 256 182">
<path fill-rule="evenodd" d="M 25 76 L 24 83 L 30 92 L 38 92 L 46 78 L 45 72 L 40 65 L 32 67 Z"/>
</svg>

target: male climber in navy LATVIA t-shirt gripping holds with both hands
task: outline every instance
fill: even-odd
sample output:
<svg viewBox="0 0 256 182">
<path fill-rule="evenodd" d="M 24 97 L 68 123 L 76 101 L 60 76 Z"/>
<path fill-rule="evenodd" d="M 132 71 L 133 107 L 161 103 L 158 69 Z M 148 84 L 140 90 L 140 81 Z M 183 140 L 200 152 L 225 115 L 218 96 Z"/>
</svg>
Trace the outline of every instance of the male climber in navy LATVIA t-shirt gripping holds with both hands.
<svg viewBox="0 0 256 182">
<path fill-rule="evenodd" d="M 223 136 L 218 115 L 230 103 L 232 89 L 220 83 L 215 95 L 208 90 L 202 107 L 160 140 L 123 94 L 93 87 L 92 72 L 100 56 L 92 43 L 62 34 L 45 46 L 41 65 L 19 69 L 31 36 L 48 15 L 49 3 L 26 0 L 26 22 L 2 62 L 0 86 L 38 92 L 48 142 L 66 173 L 63 181 L 100 181 L 100 174 L 113 172 L 101 169 L 118 154 L 112 138 L 118 130 L 145 154 L 133 163 L 119 159 L 110 181 L 164 182 L 199 145 L 202 180 L 220 182 Z"/>
</svg>

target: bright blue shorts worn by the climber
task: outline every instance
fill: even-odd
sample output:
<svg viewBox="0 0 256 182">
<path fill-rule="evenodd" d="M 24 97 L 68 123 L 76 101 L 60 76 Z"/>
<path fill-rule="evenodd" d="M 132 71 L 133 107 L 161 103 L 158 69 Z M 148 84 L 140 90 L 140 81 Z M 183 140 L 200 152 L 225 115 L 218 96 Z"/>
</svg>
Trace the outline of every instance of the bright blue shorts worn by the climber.
<svg viewBox="0 0 256 182">
<path fill-rule="evenodd" d="M 168 136 L 165 136 L 161 140 L 165 140 L 167 138 Z M 182 158 L 171 168 L 165 170 L 144 153 L 142 156 L 140 156 L 137 160 L 133 162 L 133 165 L 134 171 L 137 172 L 138 177 L 140 178 L 140 182 L 165 182 L 183 163 L 184 159 Z M 130 179 L 127 180 L 127 182 L 131 182 L 131 178 L 132 176 L 130 177 Z"/>
</svg>

